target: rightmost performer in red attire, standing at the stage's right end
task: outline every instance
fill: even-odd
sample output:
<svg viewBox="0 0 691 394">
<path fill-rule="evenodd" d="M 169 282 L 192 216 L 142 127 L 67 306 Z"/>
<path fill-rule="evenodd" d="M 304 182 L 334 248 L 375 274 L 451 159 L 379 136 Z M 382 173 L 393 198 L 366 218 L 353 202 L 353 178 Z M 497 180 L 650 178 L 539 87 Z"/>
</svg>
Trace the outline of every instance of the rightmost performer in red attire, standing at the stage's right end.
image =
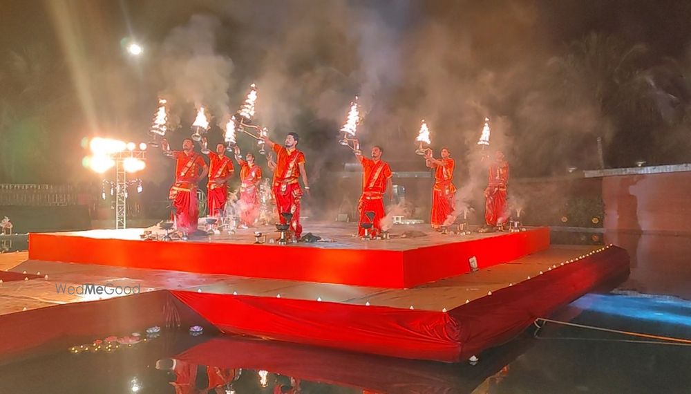
<svg viewBox="0 0 691 394">
<path fill-rule="evenodd" d="M 509 163 L 504 153 L 496 151 L 494 161 L 489 165 L 489 180 L 484 189 L 484 220 L 487 223 L 483 232 L 493 231 L 508 218 L 507 184 L 509 183 Z"/>
</svg>

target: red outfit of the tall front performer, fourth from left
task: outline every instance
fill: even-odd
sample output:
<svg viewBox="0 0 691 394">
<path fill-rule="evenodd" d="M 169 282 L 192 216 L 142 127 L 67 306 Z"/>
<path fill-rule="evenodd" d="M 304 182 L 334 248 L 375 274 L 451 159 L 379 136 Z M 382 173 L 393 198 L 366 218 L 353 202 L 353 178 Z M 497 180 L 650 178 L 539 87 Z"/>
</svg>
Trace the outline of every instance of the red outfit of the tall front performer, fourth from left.
<svg viewBox="0 0 691 394">
<path fill-rule="evenodd" d="M 293 218 L 290 222 L 290 227 L 297 238 L 302 234 L 302 225 L 300 224 L 300 198 L 302 197 L 302 189 L 298 183 L 300 177 L 301 163 L 305 162 L 305 155 L 294 149 L 292 153 L 288 153 L 282 145 L 274 144 L 274 152 L 276 152 L 276 169 L 274 170 L 274 199 L 276 200 L 276 209 L 278 210 L 278 219 L 285 224 L 282 212 L 290 212 Z"/>
</svg>

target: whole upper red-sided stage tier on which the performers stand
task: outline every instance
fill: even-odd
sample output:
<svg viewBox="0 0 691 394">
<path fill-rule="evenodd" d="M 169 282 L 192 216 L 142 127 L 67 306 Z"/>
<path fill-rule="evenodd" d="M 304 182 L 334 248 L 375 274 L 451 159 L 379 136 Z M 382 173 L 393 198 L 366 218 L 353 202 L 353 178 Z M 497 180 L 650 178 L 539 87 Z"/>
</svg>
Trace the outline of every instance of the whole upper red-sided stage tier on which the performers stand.
<svg viewBox="0 0 691 394">
<path fill-rule="evenodd" d="M 142 241 L 143 229 L 91 230 L 29 234 L 29 258 L 227 274 L 265 279 L 413 288 L 470 272 L 475 257 L 480 269 L 518 259 L 549 247 L 547 227 L 515 233 L 466 236 L 432 232 L 428 225 L 401 225 L 391 239 L 362 241 L 351 224 L 310 224 L 309 231 L 333 242 L 254 244 L 254 231 L 275 236 L 275 229 L 238 230 L 189 241 Z M 405 237 L 406 232 L 425 234 Z"/>
</svg>

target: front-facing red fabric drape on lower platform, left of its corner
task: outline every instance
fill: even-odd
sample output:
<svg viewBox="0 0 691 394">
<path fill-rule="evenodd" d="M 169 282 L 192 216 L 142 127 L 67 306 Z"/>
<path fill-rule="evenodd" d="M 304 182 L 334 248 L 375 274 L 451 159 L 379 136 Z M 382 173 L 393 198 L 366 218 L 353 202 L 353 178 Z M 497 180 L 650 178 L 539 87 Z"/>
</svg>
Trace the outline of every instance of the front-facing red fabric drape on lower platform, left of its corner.
<svg viewBox="0 0 691 394">
<path fill-rule="evenodd" d="M 410 359 L 455 359 L 458 327 L 443 312 L 173 291 L 220 330 Z"/>
</svg>

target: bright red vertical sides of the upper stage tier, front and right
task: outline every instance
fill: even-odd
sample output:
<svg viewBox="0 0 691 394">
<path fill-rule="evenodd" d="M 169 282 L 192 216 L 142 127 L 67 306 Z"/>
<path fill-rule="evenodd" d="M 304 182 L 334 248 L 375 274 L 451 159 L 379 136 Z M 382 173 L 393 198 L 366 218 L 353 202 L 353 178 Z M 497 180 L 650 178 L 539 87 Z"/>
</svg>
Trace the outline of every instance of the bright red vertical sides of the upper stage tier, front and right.
<svg viewBox="0 0 691 394">
<path fill-rule="evenodd" d="M 264 279 L 413 288 L 549 247 L 549 228 L 417 249 L 368 250 L 234 243 L 160 242 L 29 234 L 29 259 L 227 274 Z M 258 257 L 261 261 L 258 261 Z M 254 263 L 252 263 L 254 262 Z"/>
</svg>

